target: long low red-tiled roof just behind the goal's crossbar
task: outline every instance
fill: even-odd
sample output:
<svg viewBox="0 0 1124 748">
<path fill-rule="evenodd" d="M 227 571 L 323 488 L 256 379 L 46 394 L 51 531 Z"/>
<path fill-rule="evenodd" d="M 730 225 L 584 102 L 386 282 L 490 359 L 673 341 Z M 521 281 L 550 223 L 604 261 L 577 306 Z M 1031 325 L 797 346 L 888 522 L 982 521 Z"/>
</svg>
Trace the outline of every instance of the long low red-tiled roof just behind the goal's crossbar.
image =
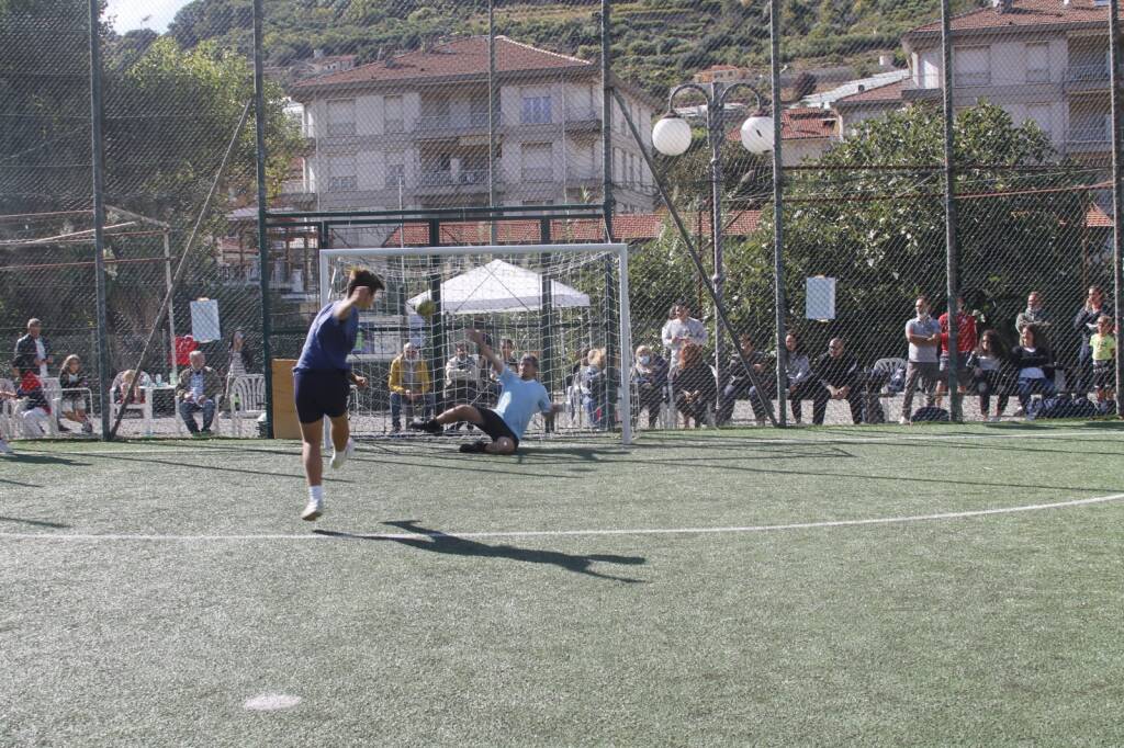
<svg viewBox="0 0 1124 748">
<path fill-rule="evenodd" d="M 741 211 L 733 219 L 727 220 L 726 230 L 731 236 L 745 236 L 756 230 L 760 218 L 760 211 Z M 616 241 L 646 241 L 659 237 L 667 226 L 670 224 L 664 213 L 622 213 L 613 218 L 613 238 Z M 404 229 L 395 229 L 383 246 L 428 246 L 428 225 L 407 224 Z M 700 231 L 704 236 L 709 236 L 709 221 L 704 220 L 699 226 L 695 226 L 692 222 L 688 226 L 688 230 Z M 490 234 L 486 221 L 456 221 L 441 225 L 441 241 L 448 246 L 491 244 Z M 551 221 L 551 236 L 554 237 L 555 241 L 604 241 L 605 229 L 601 221 L 596 219 L 555 219 Z M 500 244 L 535 244 L 538 241 L 538 221 L 500 221 L 497 227 L 497 240 Z"/>
</svg>

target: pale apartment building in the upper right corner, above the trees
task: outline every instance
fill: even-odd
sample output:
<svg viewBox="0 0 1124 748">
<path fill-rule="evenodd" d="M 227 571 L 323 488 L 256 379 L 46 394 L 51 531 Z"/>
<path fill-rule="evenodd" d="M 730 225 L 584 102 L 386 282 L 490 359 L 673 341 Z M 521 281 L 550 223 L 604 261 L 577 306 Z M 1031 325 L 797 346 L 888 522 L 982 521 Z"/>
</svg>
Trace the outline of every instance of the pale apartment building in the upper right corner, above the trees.
<svg viewBox="0 0 1124 748">
<path fill-rule="evenodd" d="M 952 19 L 953 106 L 987 100 L 1034 120 L 1054 147 L 1107 163 L 1112 150 L 1107 0 L 995 0 Z M 908 31 L 905 101 L 940 101 L 940 24 Z"/>
</svg>

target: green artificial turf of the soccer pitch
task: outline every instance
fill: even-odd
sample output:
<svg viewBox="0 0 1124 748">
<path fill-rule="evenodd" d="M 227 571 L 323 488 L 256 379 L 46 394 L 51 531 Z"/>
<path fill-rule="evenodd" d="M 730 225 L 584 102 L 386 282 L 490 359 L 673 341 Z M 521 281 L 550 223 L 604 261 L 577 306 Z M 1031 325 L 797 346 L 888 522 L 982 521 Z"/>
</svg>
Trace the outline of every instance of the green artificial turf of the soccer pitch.
<svg viewBox="0 0 1124 748">
<path fill-rule="evenodd" d="M 292 443 L 17 443 L 0 745 L 1120 745 L 1124 500 L 761 528 L 1124 494 L 1122 443 L 379 443 L 315 526 Z M 758 529 L 632 532 L 700 528 Z"/>
</svg>

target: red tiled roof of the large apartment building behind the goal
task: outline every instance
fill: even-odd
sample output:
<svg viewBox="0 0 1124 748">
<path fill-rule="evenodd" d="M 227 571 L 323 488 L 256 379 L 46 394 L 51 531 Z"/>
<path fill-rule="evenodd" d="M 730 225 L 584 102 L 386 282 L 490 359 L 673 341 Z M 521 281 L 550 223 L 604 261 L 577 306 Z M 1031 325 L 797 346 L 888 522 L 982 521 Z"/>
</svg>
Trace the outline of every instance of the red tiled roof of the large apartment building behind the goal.
<svg viewBox="0 0 1124 748">
<path fill-rule="evenodd" d="M 596 70 L 592 63 L 584 60 L 538 49 L 513 42 L 506 36 L 496 37 L 496 70 L 500 73 L 566 67 Z M 427 52 L 407 52 L 390 60 L 301 81 L 292 88 L 299 90 L 346 83 L 424 81 L 455 75 L 483 75 L 487 72 L 488 38 L 472 36 L 438 45 Z"/>
</svg>

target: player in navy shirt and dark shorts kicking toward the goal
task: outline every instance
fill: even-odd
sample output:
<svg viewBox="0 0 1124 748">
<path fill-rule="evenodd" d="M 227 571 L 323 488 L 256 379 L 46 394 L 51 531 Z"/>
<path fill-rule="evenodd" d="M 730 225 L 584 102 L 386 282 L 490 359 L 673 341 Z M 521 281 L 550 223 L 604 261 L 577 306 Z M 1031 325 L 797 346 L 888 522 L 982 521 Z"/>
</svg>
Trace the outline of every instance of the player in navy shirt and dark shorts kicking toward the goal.
<svg viewBox="0 0 1124 748">
<path fill-rule="evenodd" d="M 303 520 L 312 521 L 324 513 L 320 440 L 325 417 L 332 423 L 332 467 L 343 467 L 355 450 L 347 425 L 347 395 L 352 384 L 365 387 L 366 378 L 351 371 L 347 356 L 355 348 L 359 310 L 370 309 L 374 294 L 383 288 L 382 279 L 374 273 L 353 270 L 347 279 L 346 298 L 316 314 L 300 359 L 292 368 L 305 475 L 308 476 L 308 505 L 300 516 Z"/>
</svg>

